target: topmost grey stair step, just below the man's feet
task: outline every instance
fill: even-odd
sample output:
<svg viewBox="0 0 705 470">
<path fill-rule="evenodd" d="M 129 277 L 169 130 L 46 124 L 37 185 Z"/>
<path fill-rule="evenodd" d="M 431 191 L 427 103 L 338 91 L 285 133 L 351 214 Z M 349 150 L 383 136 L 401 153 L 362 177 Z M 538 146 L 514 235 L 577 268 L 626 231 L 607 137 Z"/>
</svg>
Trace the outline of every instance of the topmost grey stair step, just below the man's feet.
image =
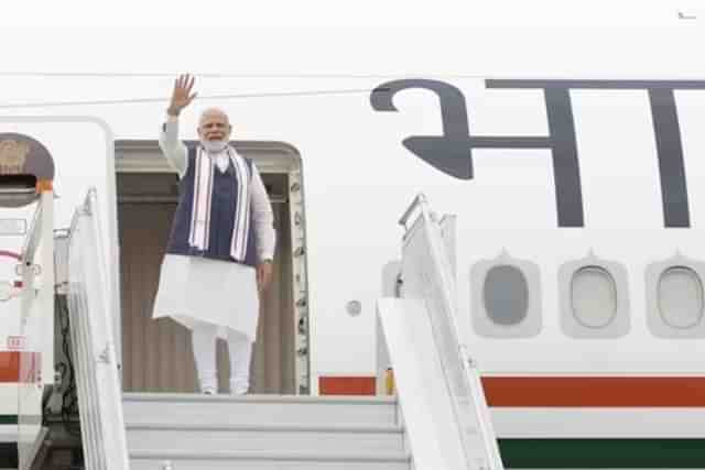
<svg viewBox="0 0 705 470">
<path fill-rule="evenodd" d="M 124 423 L 207 425 L 395 425 L 397 402 L 377 396 L 126 393 Z"/>
</svg>

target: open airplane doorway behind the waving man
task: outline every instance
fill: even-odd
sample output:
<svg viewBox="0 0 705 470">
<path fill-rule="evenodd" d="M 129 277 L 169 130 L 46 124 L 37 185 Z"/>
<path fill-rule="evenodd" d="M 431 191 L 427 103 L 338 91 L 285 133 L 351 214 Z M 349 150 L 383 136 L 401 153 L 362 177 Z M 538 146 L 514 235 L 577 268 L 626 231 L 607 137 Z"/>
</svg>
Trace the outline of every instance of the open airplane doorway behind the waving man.
<svg viewBox="0 0 705 470">
<path fill-rule="evenodd" d="M 262 174 L 278 238 L 272 285 L 261 299 L 250 392 L 299 394 L 308 390 L 308 358 L 301 354 L 302 350 L 307 352 L 307 328 L 302 328 L 307 326 L 307 316 L 297 302 L 305 258 L 297 256 L 300 247 L 303 247 L 305 240 L 303 214 L 296 209 L 302 204 L 301 172 L 293 149 L 276 145 L 237 145 L 238 151 L 254 160 Z M 197 387 L 189 330 L 170 318 L 151 318 L 176 209 L 177 177 L 166 166 L 156 142 L 116 142 L 116 154 L 123 390 L 193 393 Z M 296 242 L 292 243 L 293 240 Z M 226 391 L 229 361 L 224 341 L 218 341 L 217 357 L 219 387 Z"/>
</svg>

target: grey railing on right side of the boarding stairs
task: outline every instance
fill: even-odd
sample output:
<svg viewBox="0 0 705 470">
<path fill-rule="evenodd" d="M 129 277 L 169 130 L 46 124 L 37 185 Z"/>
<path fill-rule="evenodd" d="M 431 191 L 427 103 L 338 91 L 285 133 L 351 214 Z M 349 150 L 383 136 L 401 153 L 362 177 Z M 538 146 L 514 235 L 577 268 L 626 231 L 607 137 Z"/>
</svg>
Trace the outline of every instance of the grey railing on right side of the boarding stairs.
<svg viewBox="0 0 705 470">
<path fill-rule="evenodd" d="M 409 226 L 414 212 L 419 216 Z M 477 362 L 459 340 L 455 260 L 447 248 L 454 233 L 431 211 L 423 194 L 399 223 L 404 227 L 401 296 L 426 304 L 467 468 L 503 470 Z"/>
</svg>

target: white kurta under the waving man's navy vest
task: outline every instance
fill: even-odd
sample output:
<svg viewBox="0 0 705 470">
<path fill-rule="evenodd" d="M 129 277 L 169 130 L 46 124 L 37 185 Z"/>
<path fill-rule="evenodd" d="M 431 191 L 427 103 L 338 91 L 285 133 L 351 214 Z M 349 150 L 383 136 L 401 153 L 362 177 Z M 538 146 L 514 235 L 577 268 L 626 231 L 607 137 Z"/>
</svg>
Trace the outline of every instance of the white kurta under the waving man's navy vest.
<svg viewBox="0 0 705 470">
<path fill-rule="evenodd" d="M 188 157 L 186 146 L 178 140 L 175 119 L 167 121 L 160 135 L 160 147 L 170 165 L 183 177 Z M 214 154 L 212 159 L 219 171 L 227 170 L 226 152 Z M 254 165 L 250 201 L 258 261 L 271 260 L 275 245 L 272 207 Z M 172 317 L 192 329 L 197 323 L 205 321 L 217 325 L 221 338 L 230 328 L 254 341 L 259 317 L 256 271 L 235 262 L 167 253 L 162 262 L 152 317 Z"/>
</svg>

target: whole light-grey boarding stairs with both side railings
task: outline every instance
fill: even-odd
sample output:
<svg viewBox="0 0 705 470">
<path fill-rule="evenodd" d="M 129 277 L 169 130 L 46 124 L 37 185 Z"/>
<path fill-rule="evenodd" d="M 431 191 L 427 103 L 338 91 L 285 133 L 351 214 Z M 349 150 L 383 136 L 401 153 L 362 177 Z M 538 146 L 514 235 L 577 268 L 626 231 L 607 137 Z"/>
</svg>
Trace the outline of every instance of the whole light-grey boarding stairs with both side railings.
<svg viewBox="0 0 705 470">
<path fill-rule="evenodd" d="M 238 397 L 122 393 L 98 197 L 88 194 L 57 243 L 86 469 L 502 470 L 475 364 L 457 340 L 447 227 L 425 198 L 402 220 L 419 214 L 403 239 L 400 297 L 378 304 L 398 396 Z"/>
</svg>

